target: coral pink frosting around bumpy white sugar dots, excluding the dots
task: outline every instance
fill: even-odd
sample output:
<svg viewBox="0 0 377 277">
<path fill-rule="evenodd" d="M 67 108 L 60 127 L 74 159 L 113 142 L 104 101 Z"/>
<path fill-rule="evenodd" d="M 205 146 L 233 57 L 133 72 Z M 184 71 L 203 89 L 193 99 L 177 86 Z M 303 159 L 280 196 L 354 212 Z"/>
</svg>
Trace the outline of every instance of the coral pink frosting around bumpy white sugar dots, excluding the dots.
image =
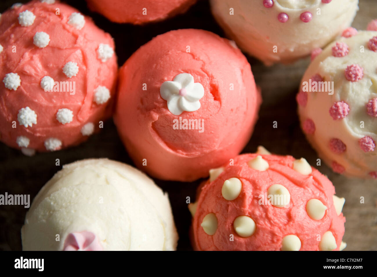
<svg viewBox="0 0 377 277">
<path fill-rule="evenodd" d="M 55 9 L 59 8 L 60 15 Z M 28 10 L 35 15 L 31 26 L 18 23 L 20 12 Z M 61 147 L 77 145 L 85 141 L 81 128 L 92 122 L 99 129 L 99 121 L 108 118 L 112 112 L 112 98 L 115 94 L 117 63 L 115 53 L 103 62 L 98 58 L 99 44 L 108 44 L 114 49 L 112 37 L 99 29 L 91 18 L 85 17 L 85 24 L 78 30 L 67 24 L 76 9 L 55 2 L 41 3 L 39 0 L 9 9 L 2 14 L 0 21 L 0 133 L 1 140 L 11 147 L 20 148 L 16 143 L 19 136 L 30 140 L 28 148 L 46 151 L 46 139 L 61 141 Z M 49 44 L 39 48 L 33 44 L 36 32 L 49 35 Z M 12 46 L 17 51 L 12 52 Z M 72 61 L 78 65 L 78 73 L 68 78 L 63 73 L 64 65 Z M 7 73 L 20 76 L 21 85 L 17 90 L 9 90 L 2 82 Z M 49 76 L 57 82 L 75 82 L 75 94 L 70 92 L 46 92 L 41 87 L 41 79 Z M 72 83 L 73 84 L 73 83 Z M 104 104 L 93 101 L 94 90 L 105 86 L 110 90 L 110 100 Z M 73 92 L 72 92 L 73 93 Z M 29 107 L 37 115 L 37 124 L 25 127 L 17 120 L 18 111 Z M 62 124 L 57 120 L 59 109 L 72 111 L 73 120 Z M 12 121 L 17 128 L 12 128 Z"/>
</svg>

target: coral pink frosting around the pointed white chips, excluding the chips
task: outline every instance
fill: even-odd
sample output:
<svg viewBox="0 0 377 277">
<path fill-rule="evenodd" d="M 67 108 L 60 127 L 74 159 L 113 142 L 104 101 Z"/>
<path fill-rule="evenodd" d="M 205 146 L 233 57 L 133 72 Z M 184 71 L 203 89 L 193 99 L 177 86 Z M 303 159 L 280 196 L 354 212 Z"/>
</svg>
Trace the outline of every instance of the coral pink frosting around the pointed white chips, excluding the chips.
<svg viewBox="0 0 377 277">
<path fill-rule="evenodd" d="M 282 239 L 290 234 L 301 241 L 301 251 L 319 250 L 318 235 L 331 231 L 337 248 L 344 234 L 345 217 L 336 213 L 333 204 L 335 188 L 318 170 L 303 175 L 293 169 L 292 156 L 261 155 L 268 162 L 265 171 L 254 170 L 248 161 L 259 154 L 244 154 L 234 158 L 234 165 L 226 165 L 224 171 L 213 182 L 199 188 L 199 199 L 193 218 L 193 246 L 196 250 L 267 250 L 276 251 L 282 247 Z M 239 196 L 231 201 L 222 196 L 224 181 L 238 178 L 242 182 Z M 271 185 L 283 185 L 290 193 L 290 205 L 277 208 L 270 203 L 261 205 Z M 319 199 L 326 207 L 320 220 L 313 220 L 306 211 L 310 199 Z M 204 232 L 201 223 L 208 213 L 215 213 L 218 228 L 212 236 Z M 255 224 L 254 234 L 240 237 L 233 228 L 238 216 L 249 216 Z M 234 241 L 230 241 L 230 234 Z"/>
</svg>

